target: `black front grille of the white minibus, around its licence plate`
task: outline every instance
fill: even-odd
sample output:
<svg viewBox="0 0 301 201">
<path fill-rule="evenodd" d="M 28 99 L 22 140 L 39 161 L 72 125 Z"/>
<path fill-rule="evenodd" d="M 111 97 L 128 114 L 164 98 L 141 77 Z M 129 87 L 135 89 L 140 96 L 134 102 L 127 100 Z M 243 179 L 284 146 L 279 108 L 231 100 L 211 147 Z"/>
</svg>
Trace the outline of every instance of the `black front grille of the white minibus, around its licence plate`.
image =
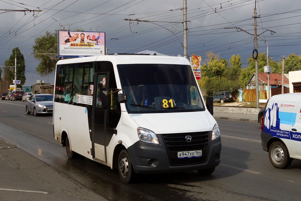
<svg viewBox="0 0 301 201">
<path fill-rule="evenodd" d="M 191 136 L 191 141 L 186 140 Z M 195 165 L 206 161 L 209 132 L 162 134 L 171 166 Z M 178 159 L 178 152 L 202 150 L 202 157 Z"/>
</svg>

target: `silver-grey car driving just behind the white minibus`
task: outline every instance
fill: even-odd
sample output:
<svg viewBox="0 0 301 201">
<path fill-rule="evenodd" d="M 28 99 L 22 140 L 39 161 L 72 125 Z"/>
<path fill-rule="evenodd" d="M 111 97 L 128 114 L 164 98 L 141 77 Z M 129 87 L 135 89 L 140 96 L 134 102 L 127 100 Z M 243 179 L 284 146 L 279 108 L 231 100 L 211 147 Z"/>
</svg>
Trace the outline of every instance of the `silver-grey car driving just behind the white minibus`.
<svg viewBox="0 0 301 201">
<path fill-rule="evenodd" d="M 39 114 L 53 113 L 53 95 L 48 93 L 33 94 L 26 100 L 26 114 L 33 112 Z"/>
</svg>

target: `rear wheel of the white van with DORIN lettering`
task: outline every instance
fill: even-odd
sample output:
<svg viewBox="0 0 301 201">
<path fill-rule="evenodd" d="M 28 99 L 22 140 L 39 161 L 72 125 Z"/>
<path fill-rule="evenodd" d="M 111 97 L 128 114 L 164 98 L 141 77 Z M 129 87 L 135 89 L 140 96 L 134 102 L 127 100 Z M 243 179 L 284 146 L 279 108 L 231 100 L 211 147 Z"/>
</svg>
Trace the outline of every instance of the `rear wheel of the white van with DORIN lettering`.
<svg viewBox="0 0 301 201">
<path fill-rule="evenodd" d="M 268 149 L 268 156 L 275 168 L 288 168 L 292 163 L 292 159 L 283 143 L 275 141 Z"/>
</svg>

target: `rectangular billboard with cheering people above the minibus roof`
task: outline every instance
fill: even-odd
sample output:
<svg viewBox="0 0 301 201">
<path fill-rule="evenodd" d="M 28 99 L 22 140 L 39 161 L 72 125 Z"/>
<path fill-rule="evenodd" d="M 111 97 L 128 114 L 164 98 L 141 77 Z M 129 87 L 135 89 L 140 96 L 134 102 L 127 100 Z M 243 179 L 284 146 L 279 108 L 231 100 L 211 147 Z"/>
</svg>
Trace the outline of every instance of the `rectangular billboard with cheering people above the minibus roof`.
<svg viewBox="0 0 301 201">
<path fill-rule="evenodd" d="M 72 58 L 105 55 L 105 33 L 57 31 L 58 57 Z"/>
</svg>

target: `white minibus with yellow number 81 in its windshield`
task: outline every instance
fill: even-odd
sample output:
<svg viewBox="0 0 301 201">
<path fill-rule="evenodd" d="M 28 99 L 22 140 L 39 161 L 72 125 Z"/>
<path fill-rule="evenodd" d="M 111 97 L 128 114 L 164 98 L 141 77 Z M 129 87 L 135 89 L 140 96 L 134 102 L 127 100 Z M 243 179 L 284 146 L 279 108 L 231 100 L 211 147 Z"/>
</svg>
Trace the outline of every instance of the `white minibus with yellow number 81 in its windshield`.
<svg viewBox="0 0 301 201">
<path fill-rule="evenodd" d="M 54 138 L 79 155 L 136 174 L 213 173 L 221 139 L 186 58 L 100 55 L 57 62 Z M 207 105 L 207 107 L 206 107 Z"/>
</svg>

